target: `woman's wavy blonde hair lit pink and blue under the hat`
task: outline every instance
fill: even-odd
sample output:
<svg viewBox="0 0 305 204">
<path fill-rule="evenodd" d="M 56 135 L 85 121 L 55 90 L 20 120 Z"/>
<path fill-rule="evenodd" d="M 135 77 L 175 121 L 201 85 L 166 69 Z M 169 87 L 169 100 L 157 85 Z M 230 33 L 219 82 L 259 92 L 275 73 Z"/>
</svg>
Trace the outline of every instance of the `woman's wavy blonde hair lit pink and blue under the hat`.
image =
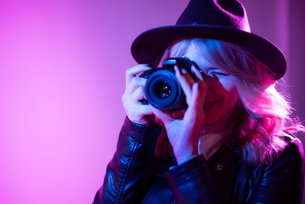
<svg viewBox="0 0 305 204">
<path fill-rule="evenodd" d="M 305 132 L 298 118 L 290 118 L 290 99 L 276 90 L 272 70 L 249 51 L 230 42 L 210 39 L 184 39 L 173 45 L 177 43 L 177 52 L 173 53 L 169 47 L 160 61 L 183 56 L 194 43 L 205 60 L 234 77 L 239 104 L 227 144 L 229 148 L 239 150 L 249 164 L 270 163 L 286 147 L 284 136 L 287 132 Z M 165 135 L 161 134 L 157 143 L 157 157 L 171 154 L 172 147 Z"/>
</svg>

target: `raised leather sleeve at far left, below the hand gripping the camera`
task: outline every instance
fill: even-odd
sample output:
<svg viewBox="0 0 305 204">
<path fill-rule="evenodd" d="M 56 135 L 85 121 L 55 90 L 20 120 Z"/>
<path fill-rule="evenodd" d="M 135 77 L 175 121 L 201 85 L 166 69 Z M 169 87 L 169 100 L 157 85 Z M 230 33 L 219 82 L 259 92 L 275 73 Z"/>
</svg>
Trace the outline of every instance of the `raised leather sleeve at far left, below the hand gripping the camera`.
<svg viewBox="0 0 305 204">
<path fill-rule="evenodd" d="M 127 117 L 120 131 L 116 152 L 107 166 L 103 186 L 94 204 L 136 204 L 143 198 L 144 177 L 162 127 L 139 125 Z"/>
</svg>

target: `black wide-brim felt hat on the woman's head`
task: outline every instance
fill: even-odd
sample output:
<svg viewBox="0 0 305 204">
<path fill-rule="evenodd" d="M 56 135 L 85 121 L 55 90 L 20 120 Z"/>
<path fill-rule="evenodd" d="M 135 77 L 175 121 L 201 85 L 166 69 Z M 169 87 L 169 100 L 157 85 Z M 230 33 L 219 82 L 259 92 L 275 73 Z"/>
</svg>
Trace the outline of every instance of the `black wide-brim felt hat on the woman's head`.
<svg viewBox="0 0 305 204">
<path fill-rule="evenodd" d="M 154 64 L 174 41 L 204 38 L 240 45 L 271 68 L 275 80 L 286 72 L 286 59 L 272 42 L 250 32 L 246 10 L 238 0 L 191 0 L 175 25 L 140 34 L 131 47 L 138 63 Z"/>
</svg>

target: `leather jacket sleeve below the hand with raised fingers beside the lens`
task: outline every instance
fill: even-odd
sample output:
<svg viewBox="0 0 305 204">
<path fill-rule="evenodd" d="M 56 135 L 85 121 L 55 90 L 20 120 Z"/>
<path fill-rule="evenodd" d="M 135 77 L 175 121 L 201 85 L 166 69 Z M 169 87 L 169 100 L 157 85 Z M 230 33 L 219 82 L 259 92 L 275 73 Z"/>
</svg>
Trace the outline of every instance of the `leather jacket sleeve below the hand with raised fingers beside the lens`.
<svg viewBox="0 0 305 204">
<path fill-rule="evenodd" d="M 164 176 L 178 204 L 217 204 L 216 183 L 203 155 L 170 168 Z"/>
</svg>

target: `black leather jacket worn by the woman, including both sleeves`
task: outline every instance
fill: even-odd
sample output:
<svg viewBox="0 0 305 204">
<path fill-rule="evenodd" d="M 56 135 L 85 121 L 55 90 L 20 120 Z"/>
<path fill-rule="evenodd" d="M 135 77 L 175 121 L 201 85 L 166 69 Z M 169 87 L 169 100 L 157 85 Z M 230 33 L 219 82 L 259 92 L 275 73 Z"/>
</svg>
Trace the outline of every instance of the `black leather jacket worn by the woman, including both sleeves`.
<svg viewBox="0 0 305 204">
<path fill-rule="evenodd" d="M 117 150 L 94 204 L 300 204 L 304 151 L 299 139 L 269 165 L 250 166 L 223 145 L 207 161 L 201 155 L 156 172 L 151 160 L 161 127 L 126 118 Z M 156 165 L 154 165 L 156 166 Z M 173 167 L 172 167 L 173 166 Z"/>
</svg>

